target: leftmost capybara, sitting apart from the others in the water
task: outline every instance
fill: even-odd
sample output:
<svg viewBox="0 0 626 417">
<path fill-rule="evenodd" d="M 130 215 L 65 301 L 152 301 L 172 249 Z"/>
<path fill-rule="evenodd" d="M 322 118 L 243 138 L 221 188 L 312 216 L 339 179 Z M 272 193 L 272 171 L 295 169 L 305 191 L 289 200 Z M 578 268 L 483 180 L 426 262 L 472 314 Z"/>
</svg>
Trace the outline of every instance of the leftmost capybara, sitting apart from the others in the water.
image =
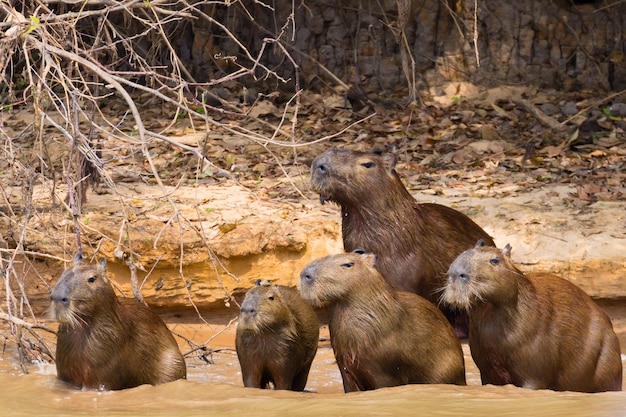
<svg viewBox="0 0 626 417">
<path fill-rule="evenodd" d="M 58 378 L 104 390 L 185 378 L 185 360 L 165 323 L 134 298 L 118 298 L 105 264 L 85 263 L 79 254 L 52 291 Z"/>
</svg>

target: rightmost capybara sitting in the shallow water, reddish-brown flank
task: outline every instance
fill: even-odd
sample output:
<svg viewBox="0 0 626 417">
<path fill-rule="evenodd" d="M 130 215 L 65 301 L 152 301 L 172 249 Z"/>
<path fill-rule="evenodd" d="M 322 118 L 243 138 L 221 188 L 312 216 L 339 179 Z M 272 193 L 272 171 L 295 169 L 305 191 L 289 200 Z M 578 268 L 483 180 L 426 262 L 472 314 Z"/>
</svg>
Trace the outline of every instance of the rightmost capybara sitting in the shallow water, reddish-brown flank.
<svg viewBox="0 0 626 417">
<path fill-rule="evenodd" d="M 463 252 L 443 298 L 468 310 L 469 346 L 483 384 L 556 391 L 620 391 L 619 340 L 583 290 L 549 273 L 523 274 L 502 250 Z"/>
</svg>

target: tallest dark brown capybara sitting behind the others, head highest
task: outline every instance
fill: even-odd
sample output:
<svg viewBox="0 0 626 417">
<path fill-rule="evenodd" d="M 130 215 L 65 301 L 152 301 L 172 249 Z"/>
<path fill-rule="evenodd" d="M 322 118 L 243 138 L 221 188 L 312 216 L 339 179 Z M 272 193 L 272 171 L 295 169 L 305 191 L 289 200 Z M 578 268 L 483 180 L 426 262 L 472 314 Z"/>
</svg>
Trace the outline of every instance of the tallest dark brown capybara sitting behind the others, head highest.
<svg viewBox="0 0 626 417">
<path fill-rule="evenodd" d="M 375 253 L 378 270 L 396 289 L 436 303 L 454 258 L 479 239 L 494 243 L 461 212 L 418 203 L 394 167 L 395 158 L 331 149 L 313 160 L 311 185 L 322 204 L 333 201 L 341 206 L 346 251 Z M 458 335 L 465 336 L 465 312 L 439 307 Z"/>
</svg>

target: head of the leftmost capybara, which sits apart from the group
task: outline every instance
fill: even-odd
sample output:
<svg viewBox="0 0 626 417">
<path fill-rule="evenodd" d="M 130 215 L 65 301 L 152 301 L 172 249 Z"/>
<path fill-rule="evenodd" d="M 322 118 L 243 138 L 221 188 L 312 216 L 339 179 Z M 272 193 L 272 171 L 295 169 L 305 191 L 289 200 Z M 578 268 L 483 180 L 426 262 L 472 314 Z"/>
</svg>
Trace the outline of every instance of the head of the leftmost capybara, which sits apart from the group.
<svg viewBox="0 0 626 417">
<path fill-rule="evenodd" d="M 52 290 L 50 312 L 53 319 L 70 327 L 82 326 L 95 311 L 115 302 L 115 292 L 106 276 L 106 260 L 92 265 L 78 254 Z"/>
</svg>

